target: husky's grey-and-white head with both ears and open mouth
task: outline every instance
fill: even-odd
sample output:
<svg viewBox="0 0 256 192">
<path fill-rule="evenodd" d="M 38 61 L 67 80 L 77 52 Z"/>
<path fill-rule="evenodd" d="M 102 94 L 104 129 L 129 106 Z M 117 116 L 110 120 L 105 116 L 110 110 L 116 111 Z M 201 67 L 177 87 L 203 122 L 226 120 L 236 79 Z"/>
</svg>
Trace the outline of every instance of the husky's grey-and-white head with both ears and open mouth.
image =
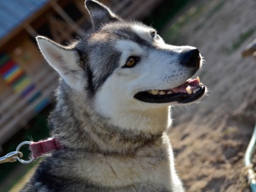
<svg viewBox="0 0 256 192">
<path fill-rule="evenodd" d="M 197 48 L 168 45 L 152 27 L 124 21 L 97 1 L 85 4 L 94 30 L 82 40 L 62 46 L 37 37 L 43 56 L 70 89 L 86 94 L 106 116 L 203 97 L 205 86 L 191 78 L 202 65 Z"/>
</svg>

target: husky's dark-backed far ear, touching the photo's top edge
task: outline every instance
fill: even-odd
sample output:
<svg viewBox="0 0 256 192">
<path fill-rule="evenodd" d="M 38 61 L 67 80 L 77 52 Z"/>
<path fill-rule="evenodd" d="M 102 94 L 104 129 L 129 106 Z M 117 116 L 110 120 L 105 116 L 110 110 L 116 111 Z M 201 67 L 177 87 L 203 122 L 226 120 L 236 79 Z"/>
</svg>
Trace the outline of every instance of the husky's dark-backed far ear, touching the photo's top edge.
<svg viewBox="0 0 256 192">
<path fill-rule="evenodd" d="M 106 6 L 98 1 L 86 0 L 85 7 L 88 9 L 91 15 L 92 25 L 94 30 L 100 28 L 103 24 L 112 21 L 120 21 L 121 19 L 112 13 Z"/>
</svg>

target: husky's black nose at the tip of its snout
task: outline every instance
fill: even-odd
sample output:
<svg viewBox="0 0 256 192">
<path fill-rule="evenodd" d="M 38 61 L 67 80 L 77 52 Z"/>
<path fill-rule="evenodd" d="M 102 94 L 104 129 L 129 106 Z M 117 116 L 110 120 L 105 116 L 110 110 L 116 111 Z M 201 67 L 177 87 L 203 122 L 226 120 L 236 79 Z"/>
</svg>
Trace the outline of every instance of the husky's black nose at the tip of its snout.
<svg viewBox="0 0 256 192">
<path fill-rule="evenodd" d="M 200 55 L 199 50 L 196 48 L 193 50 L 186 51 L 181 55 L 181 64 L 188 67 L 199 68 L 200 65 Z"/>
</svg>

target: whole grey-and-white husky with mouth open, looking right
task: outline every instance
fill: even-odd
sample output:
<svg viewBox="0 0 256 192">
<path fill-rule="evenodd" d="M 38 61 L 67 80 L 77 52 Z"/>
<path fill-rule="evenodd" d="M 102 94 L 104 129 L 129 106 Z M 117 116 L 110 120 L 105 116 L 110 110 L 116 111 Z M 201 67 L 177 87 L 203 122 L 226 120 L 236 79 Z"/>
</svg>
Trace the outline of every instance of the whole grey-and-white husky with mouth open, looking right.
<svg viewBox="0 0 256 192">
<path fill-rule="evenodd" d="M 65 149 L 45 156 L 22 191 L 184 191 L 174 170 L 170 106 L 198 101 L 193 46 L 87 0 L 93 30 L 70 46 L 37 37 L 59 72 L 49 122 Z"/>
</svg>

